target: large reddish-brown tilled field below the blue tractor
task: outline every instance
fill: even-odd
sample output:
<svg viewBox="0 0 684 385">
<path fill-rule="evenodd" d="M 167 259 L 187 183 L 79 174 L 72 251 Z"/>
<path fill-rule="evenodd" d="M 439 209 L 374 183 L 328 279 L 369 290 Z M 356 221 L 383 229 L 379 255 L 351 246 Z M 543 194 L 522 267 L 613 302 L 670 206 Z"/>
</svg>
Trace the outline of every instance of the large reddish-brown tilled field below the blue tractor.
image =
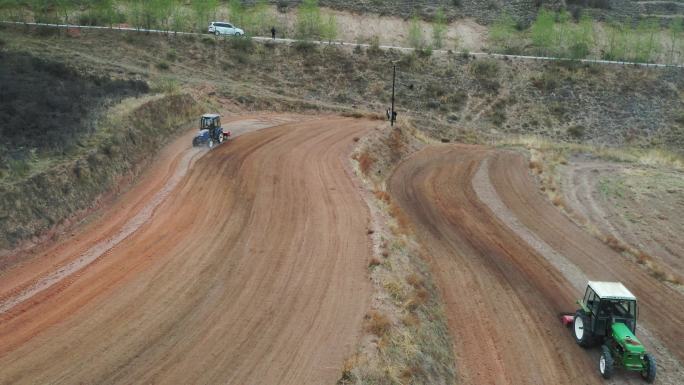
<svg viewBox="0 0 684 385">
<path fill-rule="evenodd" d="M 367 208 L 345 170 L 371 126 L 285 124 L 196 160 L 139 229 L 0 315 L 0 383 L 334 383 L 371 290 Z M 109 218 L 54 260 L 97 244 Z M 4 298 L 54 270 L 38 260 Z"/>
</svg>

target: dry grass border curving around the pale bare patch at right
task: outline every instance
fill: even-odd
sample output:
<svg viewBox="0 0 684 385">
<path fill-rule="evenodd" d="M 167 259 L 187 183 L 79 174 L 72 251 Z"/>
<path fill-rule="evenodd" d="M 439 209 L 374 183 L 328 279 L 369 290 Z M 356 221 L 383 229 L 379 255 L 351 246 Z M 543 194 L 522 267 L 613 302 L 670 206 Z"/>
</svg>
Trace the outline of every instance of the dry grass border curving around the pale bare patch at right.
<svg viewBox="0 0 684 385">
<path fill-rule="evenodd" d="M 614 225 L 608 224 L 614 219 L 606 217 L 610 220 L 601 221 L 596 219 L 598 217 L 592 218 L 585 208 L 577 206 L 579 203 L 571 196 L 574 186 L 570 185 L 570 180 L 568 180 L 568 174 L 573 167 L 581 165 L 582 159 L 586 159 L 593 160 L 597 164 L 593 167 L 597 173 L 598 169 L 601 168 L 599 165 L 613 164 L 619 167 L 642 170 L 646 173 L 669 173 L 673 178 L 679 178 L 681 181 L 681 175 L 684 171 L 684 155 L 681 152 L 657 148 L 603 148 L 587 144 L 554 143 L 533 137 L 508 138 L 499 141 L 497 145 L 525 152 L 529 159 L 530 173 L 538 181 L 542 195 L 566 217 L 622 255 L 628 263 L 638 265 L 656 280 L 679 292 L 684 291 L 684 276 L 682 276 L 681 270 L 673 269 L 671 265 L 663 261 L 663 258 L 653 255 L 652 248 L 644 245 L 647 235 L 634 238 L 630 242 Z M 605 180 L 601 179 L 599 182 L 605 182 Z M 664 184 L 662 178 L 661 182 Z M 674 189 L 673 191 L 677 192 L 678 190 Z M 605 195 L 611 192 L 599 191 L 599 193 Z M 644 205 L 645 210 L 655 208 L 655 205 L 647 200 L 643 201 L 642 205 Z M 674 207 L 673 209 L 676 210 Z M 587 210 L 591 211 L 590 209 Z M 595 210 L 600 209 L 595 208 Z"/>
</svg>

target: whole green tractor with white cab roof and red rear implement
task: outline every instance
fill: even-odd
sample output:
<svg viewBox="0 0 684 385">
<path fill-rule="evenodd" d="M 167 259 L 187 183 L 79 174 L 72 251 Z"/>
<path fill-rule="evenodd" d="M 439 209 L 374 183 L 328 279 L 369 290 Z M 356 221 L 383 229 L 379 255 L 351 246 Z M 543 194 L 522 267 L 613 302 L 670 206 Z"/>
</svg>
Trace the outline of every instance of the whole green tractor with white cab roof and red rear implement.
<svg viewBox="0 0 684 385">
<path fill-rule="evenodd" d="M 610 378 L 615 367 L 638 371 L 648 383 L 655 380 L 653 356 L 634 335 L 636 333 L 637 301 L 618 282 L 589 281 L 580 309 L 574 317 L 563 316 L 563 323 L 572 324 L 575 341 L 582 347 L 601 344 L 599 371 Z"/>
</svg>

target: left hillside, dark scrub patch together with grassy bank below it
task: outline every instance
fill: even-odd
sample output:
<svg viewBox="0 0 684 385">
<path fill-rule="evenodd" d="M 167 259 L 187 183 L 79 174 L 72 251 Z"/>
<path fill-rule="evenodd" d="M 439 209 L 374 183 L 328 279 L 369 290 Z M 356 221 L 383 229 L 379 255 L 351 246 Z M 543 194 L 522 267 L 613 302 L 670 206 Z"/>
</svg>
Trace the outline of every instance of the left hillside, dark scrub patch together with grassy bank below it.
<svg viewBox="0 0 684 385">
<path fill-rule="evenodd" d="M 13 49 L 0 61 L 0 250 L 130 180 L 197 113 L 134 76 Z"/>
</svg>

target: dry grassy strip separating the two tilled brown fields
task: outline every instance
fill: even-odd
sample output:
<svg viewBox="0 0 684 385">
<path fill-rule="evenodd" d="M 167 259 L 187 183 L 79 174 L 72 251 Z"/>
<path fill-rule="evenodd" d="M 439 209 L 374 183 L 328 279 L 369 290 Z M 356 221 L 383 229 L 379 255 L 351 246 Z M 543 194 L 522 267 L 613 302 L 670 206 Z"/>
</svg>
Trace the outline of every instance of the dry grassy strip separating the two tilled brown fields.
<svg viewBox="0 0 684 385">
<path fill-rule="evenodd" d="M 357 142 L 353 168 L 363 182 L 371 212 L 368 234 L 373 283 L 365 335 L 342 368 L 342 384 L 448 384 L 456 380 L 455 358 L 443 301 L 427 256 L 411 225 L 385 191 L 392 168 L 425 145 L 419 131 L 401 123 L 380 126 Z M 372 155 L 371 155 L 372 154 Z"/>
</svg>

